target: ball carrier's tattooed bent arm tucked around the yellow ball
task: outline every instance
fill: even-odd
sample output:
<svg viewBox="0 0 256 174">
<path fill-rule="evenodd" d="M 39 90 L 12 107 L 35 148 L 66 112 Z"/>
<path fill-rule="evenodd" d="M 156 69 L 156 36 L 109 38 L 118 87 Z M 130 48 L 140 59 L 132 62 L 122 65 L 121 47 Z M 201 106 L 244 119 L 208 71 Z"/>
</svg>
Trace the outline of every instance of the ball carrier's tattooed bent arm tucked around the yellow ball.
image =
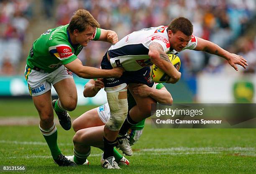
<svg viewBox="0 0 256 174">
<path fill-rule="evenodd" d="M 149 45 L 148 55 L 156 67 L 159 67 L 170 76 L 170 80 L 167 83 L 176 83 L 179 81 L 181 73 L 172 65 L 161 44 L 152 42 Z"/>
</svg>

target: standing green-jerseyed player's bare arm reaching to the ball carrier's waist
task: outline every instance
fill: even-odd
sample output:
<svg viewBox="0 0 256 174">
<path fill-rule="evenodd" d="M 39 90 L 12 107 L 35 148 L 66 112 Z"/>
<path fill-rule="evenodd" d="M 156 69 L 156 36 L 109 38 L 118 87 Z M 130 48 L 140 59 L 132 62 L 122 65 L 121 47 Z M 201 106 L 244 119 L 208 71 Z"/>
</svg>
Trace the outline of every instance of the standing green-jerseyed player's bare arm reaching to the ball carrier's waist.
<svg viewBox="0 0 256 174">
<path fill-rule="evenodd" d="M 108 77 L 121 77 L 124 72 L 123 68 L 116 67 L 113 69 L 99 69 L 94 67 L 86 67 L 82 65 L 79 59 L 64 65 L 67 69 L 77 74 L 84 79 L 108 78 Z"/>
</svg>

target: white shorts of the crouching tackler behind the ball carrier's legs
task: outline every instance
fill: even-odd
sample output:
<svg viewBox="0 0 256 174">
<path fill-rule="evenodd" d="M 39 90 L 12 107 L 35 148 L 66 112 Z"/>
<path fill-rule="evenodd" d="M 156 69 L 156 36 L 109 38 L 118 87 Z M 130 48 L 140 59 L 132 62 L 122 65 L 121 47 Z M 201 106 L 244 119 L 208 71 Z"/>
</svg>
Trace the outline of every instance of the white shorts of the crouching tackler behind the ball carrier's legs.
<svg viewBox="0 0 256 174">
<path fill-rule="evenodd" d="M 100 107 L 97 107 L 97 113 L 100 117 L 100 120 L 102 120 L 103 123 L 107 123 L 108 119 L 110 118 L 110 108 L 108 103 L 101 105 Z M 132 146 L 135 144 L 138 139 L 141 137 L 143 129 L 141 130 L 135 130 L 135 129 L 129 129 L 128 135 L 130 136 L 130 145 Z"/>
</svg>

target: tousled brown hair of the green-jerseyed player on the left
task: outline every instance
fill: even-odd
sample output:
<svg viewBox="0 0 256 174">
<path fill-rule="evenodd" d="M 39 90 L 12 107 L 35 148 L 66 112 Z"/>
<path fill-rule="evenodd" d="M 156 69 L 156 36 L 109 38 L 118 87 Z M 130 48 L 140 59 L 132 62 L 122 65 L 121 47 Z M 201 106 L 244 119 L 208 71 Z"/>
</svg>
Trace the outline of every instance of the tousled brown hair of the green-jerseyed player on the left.
<svg viewBox="0 0 256 174">
<path fill-rule="evenodd" d="M 80 9 L 71 17 L 67 30 L 69 33 L 73 33 L 74 30 L 82 32 L 89 26 L 100 28 L 100 24 L 95 20 L 95 18 L 93 18 L 89 11 Z"/>
</svg>

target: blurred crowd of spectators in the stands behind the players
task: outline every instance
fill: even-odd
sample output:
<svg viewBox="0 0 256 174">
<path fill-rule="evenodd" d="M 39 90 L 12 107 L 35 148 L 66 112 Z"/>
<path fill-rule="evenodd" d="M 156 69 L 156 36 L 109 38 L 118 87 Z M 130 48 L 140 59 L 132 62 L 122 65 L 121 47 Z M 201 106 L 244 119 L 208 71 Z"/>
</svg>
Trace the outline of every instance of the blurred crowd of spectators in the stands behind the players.
<svg viewBox="0 0 256 174">
<path fill-rule="evenodd" d="M 41 0 L 41 15 L 34 10 L 37 1 L 0 0 L 0 74 L 21 74 L 17 67 L 26 59 L 23 51 L 27 32 L 37 18 L 53 21 L 52 28 L 69 23 L 74 11 L 90 11 L 101 28 L 118 33 L 119 39 L 128 33 L 152 26 L 168 25 L 173 18 L 184 16 L 194 25 L 194 35 L 213 41 L 230 52 L 248 60 L 246 71 L 256 71 L 255 0 Z M 42 26 L 43 27 L 43 26 Z M 46 28 L 47 29 L 47 28 Z M 38 38 L 41 33 L 33 36 Z M 32 43 L 30 43 L 32 44 Z M 100 67 L 100 61 L 110 44 L 90 42 L 79 54 L 84 65 Z M 233 71 L 223 59 L 199 51 L 182 51 L 184 78 L 198 73 Z"/>
</svg>

